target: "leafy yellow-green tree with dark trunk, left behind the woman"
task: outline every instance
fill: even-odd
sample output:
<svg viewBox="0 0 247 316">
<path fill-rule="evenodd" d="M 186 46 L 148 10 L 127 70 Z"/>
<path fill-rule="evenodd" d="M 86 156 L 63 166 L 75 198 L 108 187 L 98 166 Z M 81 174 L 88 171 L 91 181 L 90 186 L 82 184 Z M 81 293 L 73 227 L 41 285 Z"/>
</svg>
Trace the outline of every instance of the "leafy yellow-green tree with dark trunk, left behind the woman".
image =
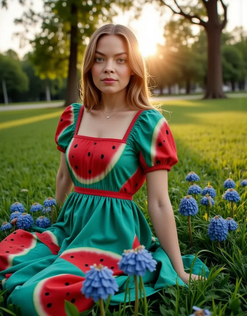
<svg viewBox="0 0 247 316">
<path fill-rule="evenodd" d="M 42 79 L 68 78 L 66 106 L 77 101 L 77 69 L 90 35 L 99 24 L 112 22 L 117 7 L 125 10 L 131 6 L 131 0 L 44 0 L 42 14 L 30 8 L 16 20 L 27 30 L 41 20 L 42 30 L 31 41 L 30 61 Z"/>
</svg>

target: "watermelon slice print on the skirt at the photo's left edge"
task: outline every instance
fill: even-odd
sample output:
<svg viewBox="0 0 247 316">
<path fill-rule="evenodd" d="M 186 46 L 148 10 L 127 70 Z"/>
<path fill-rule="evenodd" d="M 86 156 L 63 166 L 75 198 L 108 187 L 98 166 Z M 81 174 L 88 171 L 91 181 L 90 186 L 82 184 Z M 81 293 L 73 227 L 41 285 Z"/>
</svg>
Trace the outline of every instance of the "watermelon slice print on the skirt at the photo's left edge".
<svg viewBox="0 0 247 316">
<path fill-rule="evenodd" d="M 0 243 L 0 271 L 13 265 L 13 259 L 26 255 L 37 244 L 37 237 L 23 229 L 17 229 Z"/>
</svg>

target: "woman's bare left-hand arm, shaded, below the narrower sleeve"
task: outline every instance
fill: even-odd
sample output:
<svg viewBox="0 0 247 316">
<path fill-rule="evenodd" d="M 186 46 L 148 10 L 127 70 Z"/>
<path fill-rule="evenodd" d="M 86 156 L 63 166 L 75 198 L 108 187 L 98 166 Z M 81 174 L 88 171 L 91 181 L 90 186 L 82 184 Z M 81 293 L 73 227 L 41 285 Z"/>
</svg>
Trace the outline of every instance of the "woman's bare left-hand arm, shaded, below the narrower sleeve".
<svg viewBox="0 0 247 316">
<path fill-rule="evenodd" d="M 68 167 L 65 161 L 65 153 L 61 152 L 60 165 L 56 178 L 56 201 L 61 205 L 65 201 L 66 194 L 69 195 L 73 187 Z"/>
</svg>

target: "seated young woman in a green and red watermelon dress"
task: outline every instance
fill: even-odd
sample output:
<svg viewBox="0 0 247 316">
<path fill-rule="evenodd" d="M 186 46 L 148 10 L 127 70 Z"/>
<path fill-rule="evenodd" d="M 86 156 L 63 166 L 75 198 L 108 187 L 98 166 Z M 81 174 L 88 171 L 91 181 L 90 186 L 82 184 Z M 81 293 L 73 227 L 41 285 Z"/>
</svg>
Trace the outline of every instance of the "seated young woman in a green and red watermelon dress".
<svg viewBox="0 0 247 316">
<path fill-rule="evenodd" d="M 146 295 L 175 285 L 176 279 L 181 285 L 189 281 L 185 268 L 195 257 L 181 256 L 167 188 L 167 174 L 178 162 L 176 145 L 149 96 L 134 34 L 122 25 L 100 27 L 84 55 L 83 105 L 64 110 L 55 135 L 61 151 L 56 200 L 65 201 L 57 222 L 47 229 L 33 227 L 32 233 L 19 229 L 1 243 L 29 245 L 11 259 L 0 251 L 7 303 L 19 305 L 23 315 L 65 315 L 65 299 L 80 312 L 90 308 L 93 301 L 85 299 L 81 288 L 94 263 L 113 270 L 119 292 L 111 304 L 123 302 L 127 276 L 117 262 L 125 249 L 139 245 L 157 261 L 156 271 L 144 276 Z M 157 238 L 133 201 L 145 179 Z M 198 279 L 203 268 L 208 273 L 197 258 L 192 278 Z"/>
</svg>

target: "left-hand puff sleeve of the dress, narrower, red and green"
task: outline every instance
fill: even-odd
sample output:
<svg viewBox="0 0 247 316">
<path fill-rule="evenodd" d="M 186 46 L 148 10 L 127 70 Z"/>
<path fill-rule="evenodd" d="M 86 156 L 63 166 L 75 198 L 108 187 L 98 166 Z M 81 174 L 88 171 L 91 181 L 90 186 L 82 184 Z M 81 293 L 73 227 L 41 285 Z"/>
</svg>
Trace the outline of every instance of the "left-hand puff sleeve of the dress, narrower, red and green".
<svg viewBox="0 0 247 316">
<path fill-rule="evenodd" d="M 82 105 L 73 103 L 67 106 L 59 118 L 55 133 L 57 149 L 65 153 L 76 130 L 77 119 Z"/>
</svg>

